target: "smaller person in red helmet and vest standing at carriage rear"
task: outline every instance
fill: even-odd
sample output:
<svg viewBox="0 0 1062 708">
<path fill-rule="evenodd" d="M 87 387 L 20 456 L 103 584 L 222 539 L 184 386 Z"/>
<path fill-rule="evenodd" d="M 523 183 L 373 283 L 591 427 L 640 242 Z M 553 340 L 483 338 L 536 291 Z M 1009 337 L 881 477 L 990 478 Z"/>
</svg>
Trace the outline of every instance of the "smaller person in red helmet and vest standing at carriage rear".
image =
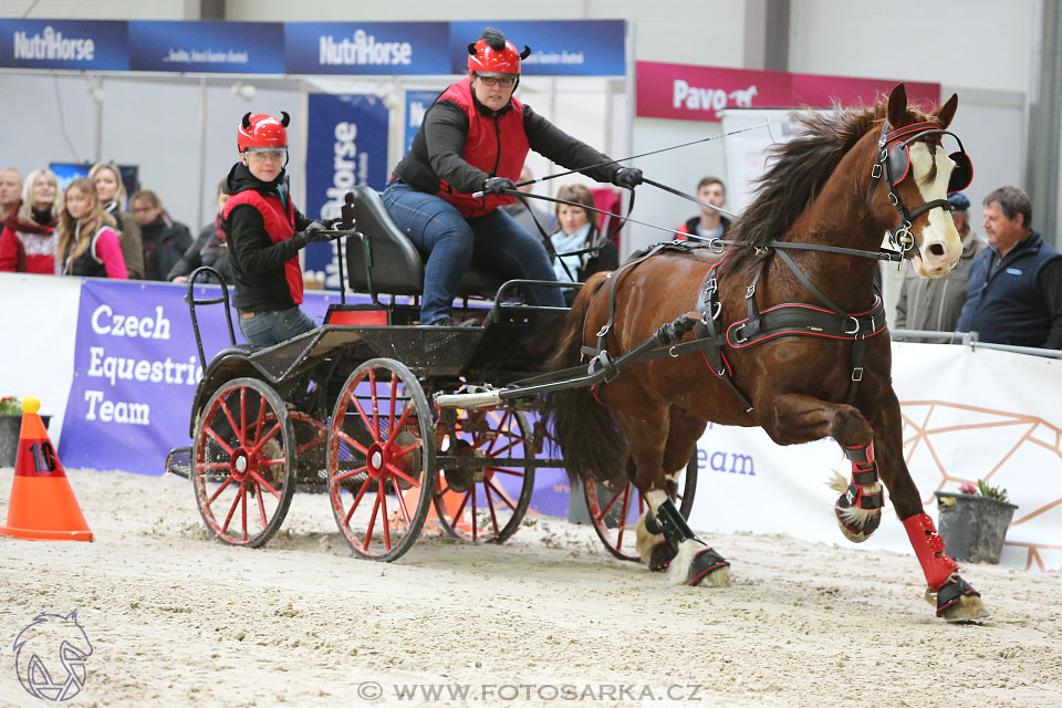
<svg viewBox="0 0 1062 708">
<path fill-rule="evenodd" d="M 291 201 L 288 163 L 288 114 L 248 113 L 240 122 L 240 162 L 225 181 L 229 198 L 221 223 L 229 243 L 235 283 L 232 302 L 240 313 L 240 332 L 248 342 L 279 344 L 316 324 L 299 309 L 302 268 L 299 249 L 324 226 L 304 217 Z"/>
</svg>

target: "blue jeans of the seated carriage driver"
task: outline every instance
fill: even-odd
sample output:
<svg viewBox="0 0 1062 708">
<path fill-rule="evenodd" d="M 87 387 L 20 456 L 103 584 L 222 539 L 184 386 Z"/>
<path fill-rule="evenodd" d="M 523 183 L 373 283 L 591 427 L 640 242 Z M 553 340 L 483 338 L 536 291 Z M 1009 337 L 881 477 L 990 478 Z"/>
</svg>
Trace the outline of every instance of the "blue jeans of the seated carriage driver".
<svg viewBox="0 0 1062 708">
<path fill-rule="evenodd" d="M 392 183 L 384 190 L 384 207 L 427 259 L 420 301 L 424 324 L 449 316 L 461 275 L 473 262 L 506 280 L 556 280 L 542 242 L 501 209 L 466 220 L 445 199 L 402 183 Z M 556 288 L 524 291 L 529 304 L 564 306 Z"/>
</svg>

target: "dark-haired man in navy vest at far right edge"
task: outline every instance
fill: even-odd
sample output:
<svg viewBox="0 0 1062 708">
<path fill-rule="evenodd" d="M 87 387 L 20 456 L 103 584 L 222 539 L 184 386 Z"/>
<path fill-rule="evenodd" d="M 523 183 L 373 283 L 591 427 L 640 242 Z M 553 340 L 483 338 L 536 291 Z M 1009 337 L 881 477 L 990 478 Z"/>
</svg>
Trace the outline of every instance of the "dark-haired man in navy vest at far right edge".
<svg viewBox="0 0 1062 708">
<path fill-rule="evenodd" d="M 982 342 L 1062 348 L 1062 256 L 1030 226 L 1017 187 L 985 197 L 988 246 L 974 260 L 956 330 Z"/>
</svg>

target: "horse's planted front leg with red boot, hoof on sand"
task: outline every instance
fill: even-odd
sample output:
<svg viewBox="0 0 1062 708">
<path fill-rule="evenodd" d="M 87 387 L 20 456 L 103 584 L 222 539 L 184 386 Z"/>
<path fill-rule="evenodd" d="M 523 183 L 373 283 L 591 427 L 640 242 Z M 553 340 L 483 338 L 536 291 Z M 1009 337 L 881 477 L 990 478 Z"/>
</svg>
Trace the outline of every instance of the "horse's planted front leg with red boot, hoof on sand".
<svg viewBox="0 0 1062 708">
<path fill-rule="evenodd" d="M 933 602 L 931 595 L 936 595 L 937 616 L 949 622 L 985 616 L 980 593 L 959 576 L 958 563 L 945 553 L 944 539 L 923 509 L 922 496 L 904 461 L 903 423 L 896 395 L 889 391 L 876 409 L 881 420 L 875 420 L 874 440 L 881 450 L 882 481 L 926 575 L 927 600 Z"/>
</svg>

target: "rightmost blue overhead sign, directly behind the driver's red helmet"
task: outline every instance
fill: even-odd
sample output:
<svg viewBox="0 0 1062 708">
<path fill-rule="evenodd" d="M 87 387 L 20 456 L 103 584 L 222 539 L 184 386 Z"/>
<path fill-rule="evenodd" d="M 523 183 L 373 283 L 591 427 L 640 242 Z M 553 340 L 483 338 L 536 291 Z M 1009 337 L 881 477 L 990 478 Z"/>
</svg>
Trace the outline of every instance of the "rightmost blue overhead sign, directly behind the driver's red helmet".
<svg viewBox="0 0 1062 708">
<path fill-rule="evenodd" d="M 450 22 L 452 73 L 468 73 L 468 44 L 493 27 L 518 50 L 531 48 L 520 71 L 529 76 L 623 76 L 626 74 L 623 20 Z"/>
</svg>

